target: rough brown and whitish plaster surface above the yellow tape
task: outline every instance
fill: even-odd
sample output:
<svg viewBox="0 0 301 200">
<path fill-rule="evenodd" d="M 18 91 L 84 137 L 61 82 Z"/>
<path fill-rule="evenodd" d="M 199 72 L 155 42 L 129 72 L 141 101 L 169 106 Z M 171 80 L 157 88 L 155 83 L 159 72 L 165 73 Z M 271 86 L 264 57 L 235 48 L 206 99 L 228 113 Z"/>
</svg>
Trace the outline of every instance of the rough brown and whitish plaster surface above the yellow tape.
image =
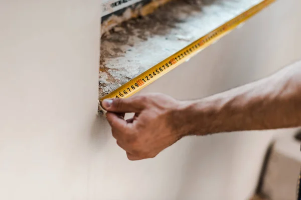
<svg viewBox="0 0 301 200">
<path fill-rule="evenodd" d="M 262 0 L 173 0 L 101 38 L 99 97 Z"/>
</svg>

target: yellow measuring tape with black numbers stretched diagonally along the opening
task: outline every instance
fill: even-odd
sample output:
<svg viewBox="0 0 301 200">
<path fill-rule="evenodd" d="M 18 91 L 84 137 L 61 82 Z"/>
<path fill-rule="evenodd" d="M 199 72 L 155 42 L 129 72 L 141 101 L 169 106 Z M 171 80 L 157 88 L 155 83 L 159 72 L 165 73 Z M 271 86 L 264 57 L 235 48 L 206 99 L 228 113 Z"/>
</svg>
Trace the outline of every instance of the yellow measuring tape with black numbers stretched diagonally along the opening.
<svg viewBox="0 0 301 200">
<path fill-rule="evenodd" d="M 247 11 L 224 23 L 215 30 L 212 30 L 205 36 L 194 41 L 190 45 L 179 50 L 178 52 L 169 56 L 168 58 L 156 64 L 155 66 L 149 68 L 145 72 L 141 73 L 137 77 L 123 84 L 122 86 L 115 89 L 113 92 L 105 95 L 104 97 L 100 98 L 99 100 L 102 101 L 105 98 L 126 98 L 133 95 L 134 93 L 144 88 L 148 84 L 152 83 L 159 77 L 176 68 L 181 63 L 194 56 L 200 50 L 206 48 L 214 41 L 218 40 L 220 37 L 224 36 L 229 31 L 234 29 L 237 25 L 244 22 L 245 20 L 247 20 L 248 18 L 250 18 L 251 16 L 253 16 L 261 9 L 265 8 L 274 1 L 275 0 L 263 0 L 259 4 L 254 5 Z"/>
</svg>

